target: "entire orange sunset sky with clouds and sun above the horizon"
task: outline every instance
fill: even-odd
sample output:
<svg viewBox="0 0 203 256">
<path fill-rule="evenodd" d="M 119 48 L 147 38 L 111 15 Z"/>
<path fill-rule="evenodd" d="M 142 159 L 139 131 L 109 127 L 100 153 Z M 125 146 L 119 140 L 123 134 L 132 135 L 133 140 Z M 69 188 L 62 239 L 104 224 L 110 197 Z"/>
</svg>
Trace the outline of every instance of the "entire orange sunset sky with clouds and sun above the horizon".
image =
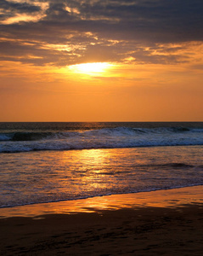
<svg viewBox="0 0 203 256">
<path fill-rule="evenodd" d="M 0 121 L 203 121 L 202 0 L 1 0 Z"/>
</svg>

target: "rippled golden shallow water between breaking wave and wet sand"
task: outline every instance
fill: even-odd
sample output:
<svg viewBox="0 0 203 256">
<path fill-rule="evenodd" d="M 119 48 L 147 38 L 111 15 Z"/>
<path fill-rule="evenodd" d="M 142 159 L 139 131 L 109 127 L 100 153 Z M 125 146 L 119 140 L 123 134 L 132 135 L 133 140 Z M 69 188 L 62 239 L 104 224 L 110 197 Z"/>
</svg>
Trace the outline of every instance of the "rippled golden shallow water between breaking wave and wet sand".
<svg viewBox="0 0 203 256">
<path fill-rule="evenodd" d="M 203 146 L 0 154 L 0 206 L 203 184 Z"/>
</svg>

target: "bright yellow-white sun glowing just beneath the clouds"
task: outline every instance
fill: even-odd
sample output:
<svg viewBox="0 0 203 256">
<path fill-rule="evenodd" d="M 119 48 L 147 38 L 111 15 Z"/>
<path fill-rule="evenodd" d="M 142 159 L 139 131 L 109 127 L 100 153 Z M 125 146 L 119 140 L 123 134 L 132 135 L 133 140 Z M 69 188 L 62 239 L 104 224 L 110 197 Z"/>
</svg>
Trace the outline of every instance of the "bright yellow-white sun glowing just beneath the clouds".
<svg viewBox="0 0 203 256">
<path fill-rule="evenodd" d="M 70 66 L 70 69 L 75 73 L 83 73 L 87 75 L 99 75 L 104 73 L 112 66 L 108 62 L 93 62 L 93 63 L 82 63 Z"/>
</svg>

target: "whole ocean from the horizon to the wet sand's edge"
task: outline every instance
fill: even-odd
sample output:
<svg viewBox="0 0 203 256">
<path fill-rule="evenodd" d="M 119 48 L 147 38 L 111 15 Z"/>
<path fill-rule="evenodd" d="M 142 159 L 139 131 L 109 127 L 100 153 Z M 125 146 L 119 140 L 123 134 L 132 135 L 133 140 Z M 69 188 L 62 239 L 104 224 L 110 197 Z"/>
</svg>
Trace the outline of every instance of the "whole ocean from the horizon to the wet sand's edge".
<svg viewBox="0 0 203 256">
<path fill-rule="evenodd" d="M 0 123 L 0 208 L 203 184 L 202 122 Z"/>
</svg>

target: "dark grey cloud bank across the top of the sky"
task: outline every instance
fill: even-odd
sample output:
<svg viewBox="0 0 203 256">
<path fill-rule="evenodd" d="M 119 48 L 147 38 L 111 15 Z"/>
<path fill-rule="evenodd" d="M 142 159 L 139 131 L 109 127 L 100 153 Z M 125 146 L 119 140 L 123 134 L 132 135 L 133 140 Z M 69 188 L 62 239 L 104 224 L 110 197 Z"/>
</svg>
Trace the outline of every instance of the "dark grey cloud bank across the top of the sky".
<svg viewBox="0 0 203 256">
<path fill-rule="evenodd" d="M 187 61 L 188 57 L 179 54 L 181 46 L 170 48 L 166 44 L 203 41 L 203 2 L 200 0 L 34 3 L 2 1 L 1 9 L 5 10 L 2 20 L 16 14 L 37 15 L 43 11 L 42 19 L 35 22 L 0 25 L 2 60 L 20 58 L 34 65 L 60 66 L 82 61 L 124 61 L 133 57 L 140 63 L 178 63 Z M 48 8 L 42 10 L 39 3 L 48 3 Z M 53 47 L 48 48 L 50 44 Z M 67 50 L 54 48 L 54 44 L 66 45 Z M 26 59 L 27 55 L 38 58 Z"/>
</svg>

